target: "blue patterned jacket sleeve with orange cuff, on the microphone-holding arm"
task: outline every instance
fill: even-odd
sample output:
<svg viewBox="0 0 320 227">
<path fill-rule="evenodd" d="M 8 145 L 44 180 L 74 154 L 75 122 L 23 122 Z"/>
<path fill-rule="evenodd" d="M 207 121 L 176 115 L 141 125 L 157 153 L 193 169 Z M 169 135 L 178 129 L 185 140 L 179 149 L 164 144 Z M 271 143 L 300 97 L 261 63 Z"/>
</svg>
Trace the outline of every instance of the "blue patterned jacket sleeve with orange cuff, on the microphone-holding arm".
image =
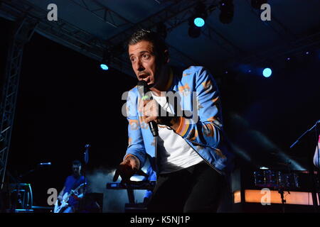
<svg viewBox="0 0 320 227">
<path fill-rule="evenodd" d="M 191 143 L 216 149 L 222 127 L 218 88 L 213 76 L 203 67 L 196 72 L 194 84 L 197 103 L 193 104 L 193 118 L 181 116 L 176 133 Z"/>
</svg>

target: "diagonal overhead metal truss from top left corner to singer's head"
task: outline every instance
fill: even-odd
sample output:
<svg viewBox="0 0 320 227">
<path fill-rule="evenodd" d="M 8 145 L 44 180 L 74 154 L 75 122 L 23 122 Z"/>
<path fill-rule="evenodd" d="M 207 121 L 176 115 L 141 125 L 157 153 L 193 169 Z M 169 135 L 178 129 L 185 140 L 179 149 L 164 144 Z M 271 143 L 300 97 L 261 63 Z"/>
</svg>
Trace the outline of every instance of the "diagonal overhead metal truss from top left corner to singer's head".
<svg viewBox="0 0 320 227">
<path fill-rule="evenodd" d="M 25 13 L 28 18 L 35 18 L 38 21 L 37 33 L 94 60 L 102 60 L 107 45 L 105 45 L 104 40 L 97 38 L 95 35 L 87 33 L 60 18 L 58 18 L 58 21 L 48 21 L 48 11 L 30 4 L 28 1 L 3 0 L 0 5 L 0 16 L 11 21 L 16 21 L 22 13 Z M 114 58 L 113 63 L 112 66 L 117 70 L 129 75 L 132 73 L 131 65 L 125 65 L 117 57 Z"/>
</svg>

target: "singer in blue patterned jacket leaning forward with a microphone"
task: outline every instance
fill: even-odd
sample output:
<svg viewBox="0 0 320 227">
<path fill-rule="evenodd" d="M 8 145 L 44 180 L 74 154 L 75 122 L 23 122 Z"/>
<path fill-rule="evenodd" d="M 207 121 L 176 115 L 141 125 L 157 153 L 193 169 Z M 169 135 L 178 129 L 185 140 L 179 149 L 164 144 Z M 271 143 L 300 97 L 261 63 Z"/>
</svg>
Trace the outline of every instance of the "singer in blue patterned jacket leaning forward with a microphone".
<svg viewBox="0 0 320 227">
<path fill-rule="evenodd" d="M 134 33 L 128 51 L 139 83 L 127 99 L 129 146 L 114 181 L 119 175 L 129 181 L 149 159 L 156 172 L 150 212 L 217 211 L 231 154 L 222 143 L 220 96 L 213 76 L 204 67 L 169 66 L 166 43 L 151 31 Z M 166 92 L 174 92 L 177 101 L 170 103 Z M 178 109 L 183 114 L 177 114 Z M 151 133 L 154 123 L 156 134 Z"/>
</svg>

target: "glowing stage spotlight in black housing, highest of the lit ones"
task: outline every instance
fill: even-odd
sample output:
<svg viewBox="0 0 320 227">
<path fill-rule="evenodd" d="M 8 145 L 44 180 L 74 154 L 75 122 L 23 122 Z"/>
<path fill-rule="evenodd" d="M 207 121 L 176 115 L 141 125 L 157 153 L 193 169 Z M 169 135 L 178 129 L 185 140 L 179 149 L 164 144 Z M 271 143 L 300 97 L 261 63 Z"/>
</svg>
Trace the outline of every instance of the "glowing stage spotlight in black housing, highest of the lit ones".
<svg viewBox="0 0 320 227">
<path fill-rule="evenodd" d="M 205 25 L 207 16 L 206 5 L 199 2 L 193 16 L 189 18 L 188 35 L 191 38 L 198 38 L 201 35 L 201 28 Z"/>
</svg>

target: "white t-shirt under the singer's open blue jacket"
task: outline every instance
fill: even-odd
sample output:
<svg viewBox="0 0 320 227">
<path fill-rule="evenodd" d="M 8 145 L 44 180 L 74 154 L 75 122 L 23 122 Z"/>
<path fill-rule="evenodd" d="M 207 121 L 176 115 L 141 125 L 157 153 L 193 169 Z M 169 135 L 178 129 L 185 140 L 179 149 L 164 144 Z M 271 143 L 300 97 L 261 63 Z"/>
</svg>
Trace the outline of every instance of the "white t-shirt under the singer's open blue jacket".
<svg viewBox="0 0 320 227">
<path fill-rule="evenodd" d="M 166 96 L 156 96 L 152 94 L 155 101 L 166 110 L 173 114 L 170 109 Z M 158 125 L 158 155 L 160 158 L 160 173 L 175 172 L 203 161 L 202 157 L 191 148 L 181 135 L 175 133 L 171 128 Z"/>
</svg>

